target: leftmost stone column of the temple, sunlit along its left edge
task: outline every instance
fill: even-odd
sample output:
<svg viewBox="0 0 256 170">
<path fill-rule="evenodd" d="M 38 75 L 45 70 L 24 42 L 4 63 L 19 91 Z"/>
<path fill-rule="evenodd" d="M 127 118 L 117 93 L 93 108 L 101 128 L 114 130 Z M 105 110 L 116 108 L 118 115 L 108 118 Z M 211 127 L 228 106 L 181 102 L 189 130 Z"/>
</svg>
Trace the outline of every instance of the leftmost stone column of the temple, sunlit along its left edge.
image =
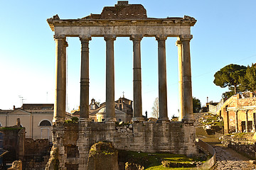
<svg viewBox="0 0 256 170">
<path fill-rule="evenodd" d="M 55 103 L 53 122 L 62 122 L 65 119 L 66 100 L 66 47 L 65 35 L 54 35 L 56 43 L 55 61 Z"/>
</svg>

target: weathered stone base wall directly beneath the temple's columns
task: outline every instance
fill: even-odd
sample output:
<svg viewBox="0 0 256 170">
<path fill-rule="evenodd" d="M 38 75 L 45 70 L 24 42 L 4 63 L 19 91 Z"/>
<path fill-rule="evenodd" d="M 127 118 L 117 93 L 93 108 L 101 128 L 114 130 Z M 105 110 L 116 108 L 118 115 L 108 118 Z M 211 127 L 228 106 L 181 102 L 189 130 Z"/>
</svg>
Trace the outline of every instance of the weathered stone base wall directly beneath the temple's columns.
<svg viewBox="0 0 256 170">
<path fill-rule="evenodd" d="M 65 129 L 65 130 L 64 130 Z M 53 147 L 58 147 L 59 166 L 86 169 L 89 149 L 96 142 L 112 142 L 116 149 L 140 152 L 171 152 L 193 155 L 196 136 L 193 123 L 82 123 L 53 126 Z M 73 154 L 68 154 L 68 153 Z M 68 166 L 65 166 L 68 165 Z"/>
</svg>

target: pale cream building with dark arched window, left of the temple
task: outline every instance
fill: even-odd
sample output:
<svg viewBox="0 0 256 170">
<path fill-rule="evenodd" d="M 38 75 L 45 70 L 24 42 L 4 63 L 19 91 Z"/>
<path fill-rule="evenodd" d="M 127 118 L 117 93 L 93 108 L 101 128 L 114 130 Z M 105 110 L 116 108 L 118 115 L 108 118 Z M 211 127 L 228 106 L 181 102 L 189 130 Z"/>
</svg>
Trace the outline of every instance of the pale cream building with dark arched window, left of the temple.
<svg viewBox="0 0 256 170">
<path fill-rule="evenodd" d="M 16 125 L 19 118 L 21 126 L 26 128 L 26 138 L 48 139 L 52 141 L 53 104 L 23 104 L 12 110 L 0 109 L 0 126 Z M 67 118 L 71 115 L 66 113 Z"/>
</svg>

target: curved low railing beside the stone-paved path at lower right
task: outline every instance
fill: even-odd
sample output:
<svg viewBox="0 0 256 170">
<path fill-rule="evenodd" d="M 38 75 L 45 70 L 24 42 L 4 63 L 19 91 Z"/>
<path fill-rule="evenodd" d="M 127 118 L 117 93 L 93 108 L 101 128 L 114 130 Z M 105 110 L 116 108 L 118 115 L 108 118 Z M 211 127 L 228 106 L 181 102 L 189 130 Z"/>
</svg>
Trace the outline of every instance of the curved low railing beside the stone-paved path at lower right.
<svg viewBox="0 0 256 170">
<path fill-rule="evenodd" d="M 198 145 L 199 147 L 202 147 L 203 149 L 205 149 L 207 152 L 209 152 L 211 155 L 213 155 L 213 157 L 211 157 L 210 159 L 208 159 L 208 161 L 206 161 L 205 163 L 194 167 L 192 170 L 196 170 L 196 169 L 210 169 L 216 162 L 216 153 L 215 150 L 213 149 L 212 146 L 208 145 L 208 143 L 203 142 L 203 140 L 200 139 L 196 139 L 196 145 Z"/>
</svg>

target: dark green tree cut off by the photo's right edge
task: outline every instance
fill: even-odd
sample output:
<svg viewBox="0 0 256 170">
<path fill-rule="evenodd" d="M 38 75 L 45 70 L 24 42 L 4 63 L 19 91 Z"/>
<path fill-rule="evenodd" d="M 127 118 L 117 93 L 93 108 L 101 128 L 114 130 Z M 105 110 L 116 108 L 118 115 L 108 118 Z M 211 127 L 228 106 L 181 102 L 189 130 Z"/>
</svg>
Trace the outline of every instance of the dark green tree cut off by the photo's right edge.
<svg viewBox="0 0 256 170">
<path fill-rule="evenodd" d="M 256 64 L 251 67 L 247 66 L 246 73 L 243 77 L 239 77 L 242 91 L 256 91 Z"/>
</svg>

